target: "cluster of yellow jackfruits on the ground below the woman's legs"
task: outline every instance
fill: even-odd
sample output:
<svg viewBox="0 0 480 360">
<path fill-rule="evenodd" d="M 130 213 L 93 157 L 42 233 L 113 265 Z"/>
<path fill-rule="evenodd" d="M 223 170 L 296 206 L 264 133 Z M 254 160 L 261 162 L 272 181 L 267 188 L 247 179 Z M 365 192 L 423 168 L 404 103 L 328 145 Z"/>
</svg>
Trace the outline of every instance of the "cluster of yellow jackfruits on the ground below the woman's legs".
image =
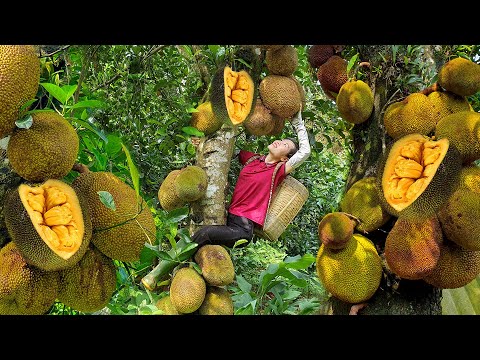
<svg viewBox="0 0 480 360">
<path fill-rule="evenodd" d="M 174 271 L 157 308 L 164 315 L 233 315 L 233 300 L 226 288 L 235 278 L 230 254 L 221 245 L 203 245 L 193 260 L 201 273 L 191 266 Z"/>
</svg>

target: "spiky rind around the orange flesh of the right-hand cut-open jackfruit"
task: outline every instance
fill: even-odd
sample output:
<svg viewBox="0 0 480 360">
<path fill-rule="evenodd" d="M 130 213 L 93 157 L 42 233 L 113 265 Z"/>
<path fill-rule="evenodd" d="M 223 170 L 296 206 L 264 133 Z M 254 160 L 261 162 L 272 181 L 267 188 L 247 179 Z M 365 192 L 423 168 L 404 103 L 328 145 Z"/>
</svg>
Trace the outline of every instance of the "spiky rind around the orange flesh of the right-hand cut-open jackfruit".
<svg viewBox="0 0 480 360">
<path fill-rule="evenodd" d="M 392 166 L 395 165 L 397 160 L 396 156 L 399 149 L 404 144 L 417 140 L 431 141 L 431 138 L 420 134 L 410 134 L 390 144 L 379 159 L 379 175 L 376 177 L 377 190 L 382 207 L 393 216 L 411 220 L 428 219 L 438 212 L 458 185 L 458 174 L 462 166 L 460 154 L 456 147 L 449 143 L 448 139 L 443 139 L 443 159 L 436 161 L 438 166 L 435 174 L 429 176 L 430 181 L 426 188 L 408 206 L 405 206 L 403 209 L 395 208 L 387 201 L 388 195 L 385 195 L 384 184 L 387 184 L 388 181 L 386 180 L 387 175 L 384 174 L 391 172 Z"/>
</svg>

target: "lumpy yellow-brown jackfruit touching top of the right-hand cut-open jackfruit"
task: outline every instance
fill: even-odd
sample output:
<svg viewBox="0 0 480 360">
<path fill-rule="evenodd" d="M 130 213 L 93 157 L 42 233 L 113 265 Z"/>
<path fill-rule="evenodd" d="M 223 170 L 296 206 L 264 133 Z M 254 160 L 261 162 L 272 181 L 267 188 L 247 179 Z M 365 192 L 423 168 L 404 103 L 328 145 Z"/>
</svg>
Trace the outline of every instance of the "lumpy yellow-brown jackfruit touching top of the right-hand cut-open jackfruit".
<svg viewBox="0 0 480 360">
<path fill-rule="evenodd" d="M 418 92 L 390 104 L 383 115 L 385 131 L 395 140 L 408 134 L 429 135 L 436 121 L 433 103 Z"/>
</svg>

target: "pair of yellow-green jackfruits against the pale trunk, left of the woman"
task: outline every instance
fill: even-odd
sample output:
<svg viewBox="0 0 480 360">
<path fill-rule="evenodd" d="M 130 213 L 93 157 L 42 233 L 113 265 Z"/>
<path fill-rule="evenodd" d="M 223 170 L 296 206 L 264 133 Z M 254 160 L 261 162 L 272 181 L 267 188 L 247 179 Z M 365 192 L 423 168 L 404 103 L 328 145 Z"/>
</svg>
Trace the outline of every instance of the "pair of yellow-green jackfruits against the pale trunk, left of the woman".
<svg viewBox="0 0 480 360">
<path fill-rule="evenodd" d="M 202 199 L 208 186 L 208 176 L 203 168 L 189 165 L 170 171 L 160 184 L 158 200 L 166 211 L 172 211 L 187 203 Z"/>
</svg>

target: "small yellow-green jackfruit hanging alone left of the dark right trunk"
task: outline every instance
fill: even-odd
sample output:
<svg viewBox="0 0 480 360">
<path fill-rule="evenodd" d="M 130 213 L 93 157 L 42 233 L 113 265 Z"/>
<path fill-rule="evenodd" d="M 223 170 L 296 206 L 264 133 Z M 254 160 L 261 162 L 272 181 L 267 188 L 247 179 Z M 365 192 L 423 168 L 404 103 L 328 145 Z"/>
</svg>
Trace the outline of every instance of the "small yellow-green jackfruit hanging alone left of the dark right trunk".
<svg viewBox="0 0 480 360">
<path fill-rule="evenodd" d="M 362 80 L 347 81 L 337 95 L 337 108 L 346 121 L 361 124 L 373 111 L 373 92 Z"/>
</svg>

